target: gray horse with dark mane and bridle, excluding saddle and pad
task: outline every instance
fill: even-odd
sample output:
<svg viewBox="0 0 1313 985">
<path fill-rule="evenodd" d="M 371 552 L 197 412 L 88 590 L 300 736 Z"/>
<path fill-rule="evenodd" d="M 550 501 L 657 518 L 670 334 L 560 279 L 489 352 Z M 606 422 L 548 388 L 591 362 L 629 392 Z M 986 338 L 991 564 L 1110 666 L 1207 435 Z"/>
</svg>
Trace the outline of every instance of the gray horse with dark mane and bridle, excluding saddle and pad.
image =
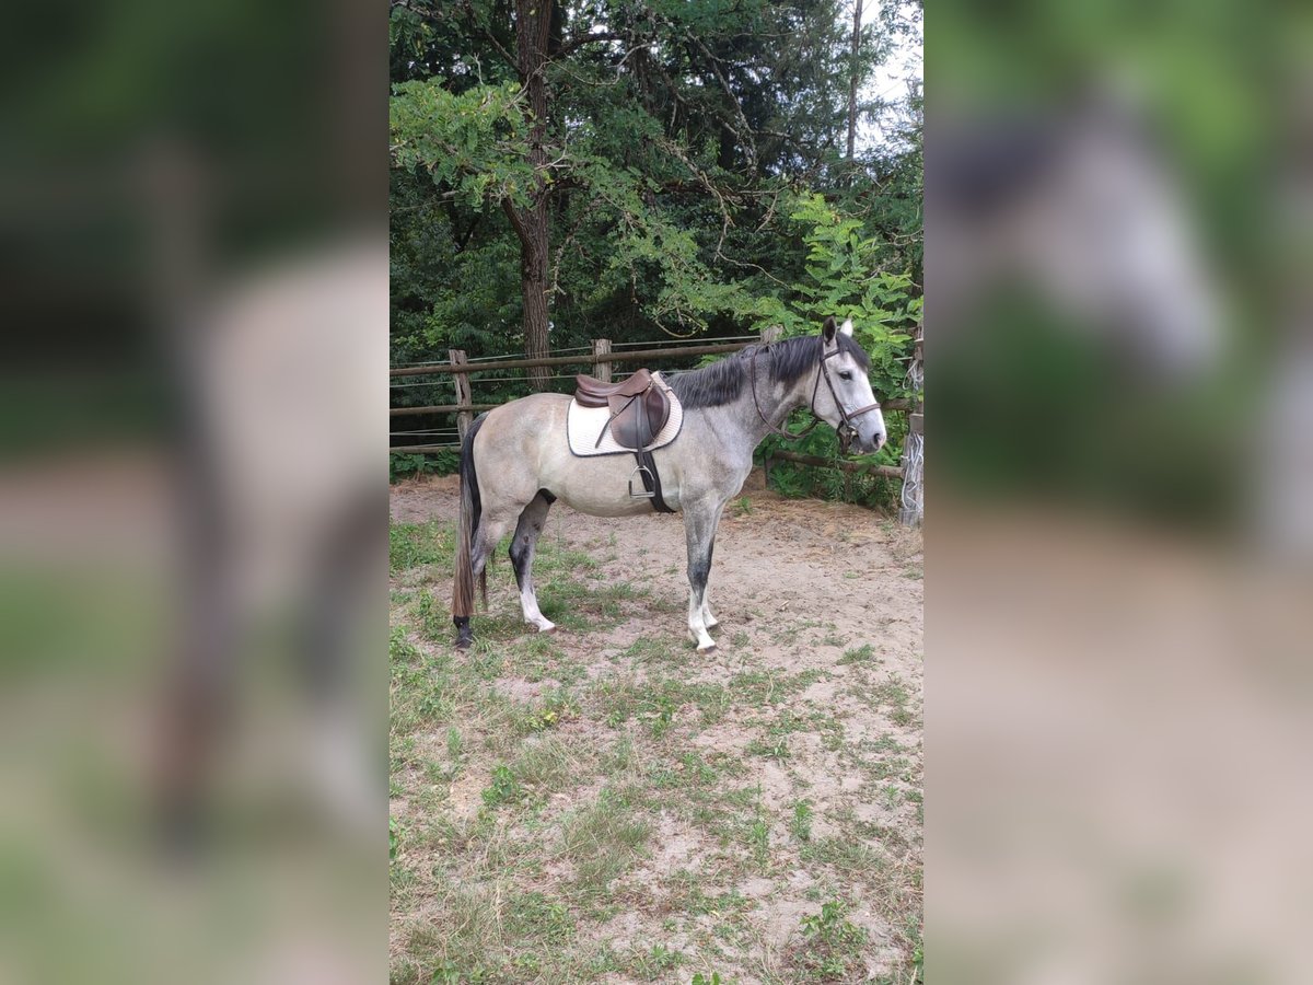
<svg viewBox="0 0 1313 985">
<path fill-rule="evenodd" d="M 852 340 L 852 322 L 826 319 L 819 335 L 750 345 L 704 369 L 679 373 L 670 385 L 684 408 L 679 437 L 653 452 L 666 503 L 684 514 L 688 542 L 688 632 L 699 653 L 716 644 L 706 595 L 712 546 L 725 504 L 752 469 L 752 450 L 781 431 L 789 412 L 811 412 L 859 450 L 885 443 L 885 422 L 871 390 L 869 356 Z M 822 385 L 823 383 L 823 385 Z M 533 553 L 555 500 L 593 516 L 633 516 L 650 500 L 629 495 L 632 456 L 579 458 L 566 443 L 570 397 L 534 394 L 474 422 L 461 452 L 460 546 L 452 592 L 457 646 L 473 640 L 474 582 L 487 599 L 486 566 L 515 525 L 511 563 L 524 621 L 551 632 L 533 590 Z"/>
</svg>

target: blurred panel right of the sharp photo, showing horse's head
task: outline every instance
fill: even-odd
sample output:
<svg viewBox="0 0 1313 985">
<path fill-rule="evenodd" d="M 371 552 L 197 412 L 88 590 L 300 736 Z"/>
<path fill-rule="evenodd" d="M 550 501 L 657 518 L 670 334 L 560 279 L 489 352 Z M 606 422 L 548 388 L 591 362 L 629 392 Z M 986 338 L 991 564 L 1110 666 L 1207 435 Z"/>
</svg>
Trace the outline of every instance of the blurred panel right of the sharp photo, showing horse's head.
<svg viewBox="0 0 1313 985">
<path fill-rule="evenodd" d="M 1313 17 L 927 21 L 927 967 L 1309 981 Z"/>
</svg>

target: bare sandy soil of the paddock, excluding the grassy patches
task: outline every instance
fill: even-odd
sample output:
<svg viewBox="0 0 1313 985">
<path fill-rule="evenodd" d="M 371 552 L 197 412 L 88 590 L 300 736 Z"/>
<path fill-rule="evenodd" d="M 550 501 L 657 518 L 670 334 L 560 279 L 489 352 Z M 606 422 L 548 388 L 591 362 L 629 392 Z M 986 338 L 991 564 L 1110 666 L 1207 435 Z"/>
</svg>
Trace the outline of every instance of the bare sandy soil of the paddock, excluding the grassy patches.
<svg viewBox="0 0 1313 985">
<path fill-rule="evenodd" d="M 742 495 L 746 506 L 737 500 L 726 508 L 710 577 L 712 607 L 721 620 L 713 630 L 717 651 L 697 657 L 687 634 L 681 516 L 603 519 L 561 504 L 550 514 L 545 540 L 587 550 L 616 580 L 634 580 L 638 570 L 650 571 L 650 579 L 639 580 L 662 604 L 605 630 L 561 630 L 557 640 L 588 666 L 593 680 L 605 675 L 641 678 L 645 668 L 622 654 L 639 636 L 654 633 L 668 633 L 687 650 L 681 672 L 691 683 L 725 686 L 742 680 L 744 674 L 813 671 L 815 682 L 783 707 L 797 716 L 825 716 L 832 732 L 801 729 L 790 734 L 788 758 L 776 760 L 752 753 L 750 743 L 764 734 L 762 705 L 754 709 L 738 696 L 721 721 L 688 737 L 693 749 L 708 755 L 748 763 L 752 779 L 760 784 L 762 808 L 773 820 L 769 872 L 708 888 L 755 901 L 750 914 L 754 943 L 742 947 L 729 968 L 725 963 L 718 967 L 722 974 L 731 971 L 738 982 L 788 980 L 789 951 L 798 947 L 800 919 L 817 911 L 818 898 L 843 894 L 855 901 L 851 918 L 871 939 L 861 977 L 878 978 L 894 969 L 903 976 L 907 936 L 898 939 L 889 923 L 889 908 L 877 898 L 885 892 L 881 879 L 889 873 L 876 877 L 804 860 L 784 831 L 793 805 L 806 799 L 814 810 L 814 841 L 829 838 L 836 846 L 860 841 L 884 852 L 893 868 L 916 884 L 919 897 L 922 535 L 868 510 L 784 499 L 764 489 L 759 471 L 750 477 Z M 414 479 L 393 487 L 395 521 L 454 519 L 456 512 L 454 477 Z M 517 611 L 512 586 L 511 566 L 502 556 L 490 573 L 495 612 Z M 445 607 L 450 575 L 433 573 L 431 590 Z M 855 647 L 869 647 L 869 655 L 857 662 L 846 659 L 844 654 Z M 905 690 L 905 704 L 895 707 L 878 697 L 880 688 L 890 682 Z M 532 701 L 542 687 L 541 682 L 516 678 L 496 684 L 519 701 Z M 777 708 L 772 707 L 772 712 Z M 575 732 L 580 742 L 587 742 L 596 738 L 588 734 L 592 728 L 600 726 L 572 722 L 562 728 L 562 734 Z M 453 785 L 446 810 L 473 814 L 481 784 L 467 784 L 467 791 L 458 789 L 460 783 Z M 881 831 L 897 833 L 897 848 L 885 851 Z M 708 862 L 716 855 L 713 841 L 678 818 L 658 818 L 650 856 L 629 879 L 634 910 L 597 932 L 620 948 L 660 938 L 696 953 L 696 923 L 660 934 L 659 914 L 666 909 L 662 879 L 680 868 L 713 872 L 714 879 L 714 865 Z M 906 900 L 901 906 L 898 919 L 906 919 Z M 915 915 L 913 919 L 919 922 Z M 693 971 L 696 963 L 681 969 L 683 977 L 670 980 L 688 981 Z"/>
</svg>

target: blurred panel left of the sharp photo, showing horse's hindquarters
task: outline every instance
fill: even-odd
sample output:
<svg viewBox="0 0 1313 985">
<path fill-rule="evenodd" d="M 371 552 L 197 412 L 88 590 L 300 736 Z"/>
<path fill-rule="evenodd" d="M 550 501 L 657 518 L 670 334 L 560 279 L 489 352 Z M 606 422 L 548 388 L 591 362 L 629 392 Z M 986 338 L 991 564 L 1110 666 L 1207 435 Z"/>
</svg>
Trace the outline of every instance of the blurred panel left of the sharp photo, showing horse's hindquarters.
<svg viewBox="0 0 1313 985">
<path fill-rule="evenodd" d="M 386 16 L 3 17 L 0 980 L 381 977 Z"/>
</svg>

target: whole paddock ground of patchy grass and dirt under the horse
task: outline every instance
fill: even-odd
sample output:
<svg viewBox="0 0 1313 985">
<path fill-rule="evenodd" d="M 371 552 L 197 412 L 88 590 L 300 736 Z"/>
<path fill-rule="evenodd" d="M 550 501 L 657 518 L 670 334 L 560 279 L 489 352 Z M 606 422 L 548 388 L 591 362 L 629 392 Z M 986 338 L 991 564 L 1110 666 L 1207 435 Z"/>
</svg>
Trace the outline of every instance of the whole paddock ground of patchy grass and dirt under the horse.
<svg viewBox="0 0 1313 985">
<path fill-rule="evenodd" d="M 394 980 L 918 980 L 920 533 L 754 473 L 700 657 L 681 517 L 558 504 L 559 630 L 503 549 L 462 654 L 456 511 L 454 477 L 393 487 Z"/>
</svg>

